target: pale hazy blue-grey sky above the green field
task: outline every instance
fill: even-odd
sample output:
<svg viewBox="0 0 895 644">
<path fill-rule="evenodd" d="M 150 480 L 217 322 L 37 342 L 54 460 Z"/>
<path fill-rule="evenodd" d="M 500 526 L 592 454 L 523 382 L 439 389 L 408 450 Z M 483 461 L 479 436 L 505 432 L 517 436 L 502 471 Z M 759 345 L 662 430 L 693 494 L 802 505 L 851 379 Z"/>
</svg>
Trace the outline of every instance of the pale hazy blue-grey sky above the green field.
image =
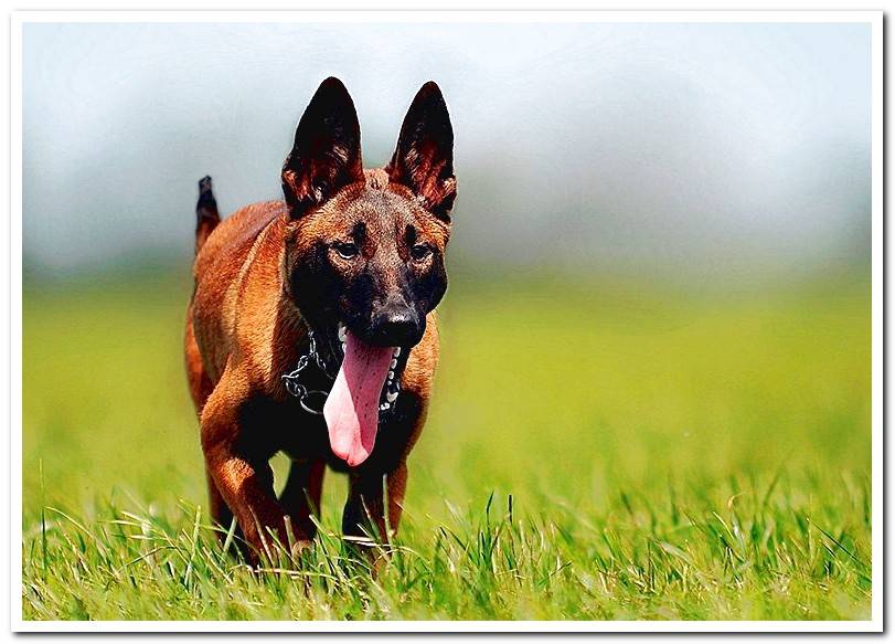
<svg viewBox="0 0 895 644">
<path fill-rule="evenodd" d="M 279 198 L 339 76 L 367 166 L 439 83 L 457 262 L 786 271 L 870 247 L 862 24 L 28 24 L 25 262 L 188 257 L 196 180 Z"/>
</svg>

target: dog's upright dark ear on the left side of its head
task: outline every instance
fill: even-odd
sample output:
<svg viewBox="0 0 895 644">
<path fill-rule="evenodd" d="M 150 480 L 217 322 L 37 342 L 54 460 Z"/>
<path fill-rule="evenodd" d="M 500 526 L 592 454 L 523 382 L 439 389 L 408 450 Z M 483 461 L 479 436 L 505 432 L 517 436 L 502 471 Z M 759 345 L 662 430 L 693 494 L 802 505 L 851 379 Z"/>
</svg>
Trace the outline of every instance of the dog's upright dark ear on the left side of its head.
<svg viewBox="0 0 895 644">
<path fill-rule="evenodd" d="M 358 112 L 342 82 L 329 77 L 305 109 L 283 165 L 289 214 L 299 218 L 355 181 L 363 181 Z"/>
</svg>

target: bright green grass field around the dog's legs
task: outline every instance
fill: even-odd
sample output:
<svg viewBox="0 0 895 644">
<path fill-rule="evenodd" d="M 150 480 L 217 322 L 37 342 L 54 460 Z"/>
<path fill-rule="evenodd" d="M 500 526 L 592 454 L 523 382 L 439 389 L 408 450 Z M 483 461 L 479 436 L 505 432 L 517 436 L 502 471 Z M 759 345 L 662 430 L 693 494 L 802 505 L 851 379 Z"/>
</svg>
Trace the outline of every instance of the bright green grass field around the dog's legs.
<svg viewBox="0 0 895 644">
<path fill-rule="evenodd" d="M 26 620 L 865 620 L 865 279 L 692 297 L 451 284 L 405 520 L 253 571 L 205 513 L 191 285 L 26 284 Z M 283 473 L 285 461 L 277 462 Z"/>
</svg>

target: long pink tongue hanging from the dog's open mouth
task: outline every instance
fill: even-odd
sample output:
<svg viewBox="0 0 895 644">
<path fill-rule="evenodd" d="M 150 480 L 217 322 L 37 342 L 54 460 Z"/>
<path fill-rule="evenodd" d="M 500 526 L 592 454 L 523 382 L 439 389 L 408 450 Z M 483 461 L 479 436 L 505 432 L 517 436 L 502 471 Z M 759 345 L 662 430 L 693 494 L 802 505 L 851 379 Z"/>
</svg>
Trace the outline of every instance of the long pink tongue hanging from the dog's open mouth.
<svg viewBox="0 0 895 644">
<path fill-rule="evenodd" d="M 394 347 L 365 345 L 345 336 L 345 359 L 323 404 L 333 454 L 351 467 L 373 452 L 380 420 L 380 395 Z"/>
</svg>

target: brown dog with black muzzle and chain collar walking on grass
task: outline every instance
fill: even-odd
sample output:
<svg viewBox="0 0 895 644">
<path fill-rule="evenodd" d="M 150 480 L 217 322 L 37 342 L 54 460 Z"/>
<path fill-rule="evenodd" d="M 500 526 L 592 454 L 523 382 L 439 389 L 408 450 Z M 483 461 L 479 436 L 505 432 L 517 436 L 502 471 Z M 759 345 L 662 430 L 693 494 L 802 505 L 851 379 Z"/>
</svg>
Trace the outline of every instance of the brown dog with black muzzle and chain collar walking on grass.
<svg viewBox="0 0 895 644">
<path fill-rule="evenodd" d="M 397 528 L 438 360 L 452 158 L 447 107 L 427 83 L 390 163 L 364 170 L 354 104 L 328 78 L 283 167 L 285 201 L 219 224 L 211 179 L 200 181 L 187 371 L 211 511 L 224 527 L 236 517 L 255 560 L 270 536 L 313 538 L 327 464 L 349 475 L 347 535 Z M 279 499 L 277 452 L 292 461 Z"/>
</svg>

